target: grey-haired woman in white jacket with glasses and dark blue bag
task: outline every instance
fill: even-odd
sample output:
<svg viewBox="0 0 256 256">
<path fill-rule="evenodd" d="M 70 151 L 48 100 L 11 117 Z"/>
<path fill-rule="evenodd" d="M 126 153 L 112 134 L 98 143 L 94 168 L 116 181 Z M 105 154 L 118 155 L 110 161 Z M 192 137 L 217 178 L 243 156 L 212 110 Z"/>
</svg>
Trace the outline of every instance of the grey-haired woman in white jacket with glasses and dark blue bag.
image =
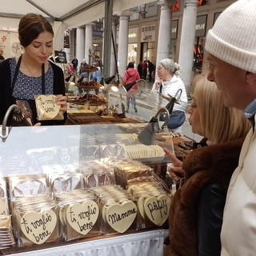
<svg viewBox="0 0 256 256">
<path fill-rule="evenodd" d="M 168 128 L 177 130 L 186 120 L 185 110 L 187 106 L 186 88 L 179 77 L 179 66 L 170 58 L 164 58 L 157 66 L 157 79 L 151 90 L 151 97 L 155 99 L 154 112 L 166 106 L 169 102 L 163 96 L 175 97 L 178 103 L 174 104 L 173 112 L 170 113 Z"/>
</svg>

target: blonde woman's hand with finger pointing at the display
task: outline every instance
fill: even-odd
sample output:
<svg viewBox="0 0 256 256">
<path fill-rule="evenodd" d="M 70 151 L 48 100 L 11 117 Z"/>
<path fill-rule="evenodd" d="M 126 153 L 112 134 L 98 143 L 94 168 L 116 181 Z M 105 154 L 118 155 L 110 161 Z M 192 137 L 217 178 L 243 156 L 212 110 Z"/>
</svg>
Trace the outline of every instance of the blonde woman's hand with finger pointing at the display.
<svg viewBox="0 0 256 256">
<path fill-rule="evenodd" d="M 184 177 L 182 161 L 178 160 L 178 158 L 176 158 L 175 155 L 170 152 L 170 150 L 167 150 L 166 148 L 164 148 L 163 150 L 172 162 L 172 166 L 168 169 L 170 177 L 173 178 L 175 181 L 179 181 Z"/>
</svg>

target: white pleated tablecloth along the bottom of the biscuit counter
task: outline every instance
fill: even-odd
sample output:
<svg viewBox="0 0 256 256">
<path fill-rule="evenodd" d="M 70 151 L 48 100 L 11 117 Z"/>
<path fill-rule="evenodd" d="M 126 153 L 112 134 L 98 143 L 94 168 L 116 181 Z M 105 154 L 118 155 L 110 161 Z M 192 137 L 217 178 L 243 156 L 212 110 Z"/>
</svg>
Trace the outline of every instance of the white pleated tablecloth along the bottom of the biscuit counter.
<svg viewBox="0 0 256 256">
<path fill-rule="evenodd" d="M 13 255 L 162 256 L 163 242 L 166 236 L 168 236 L 168 230 L 150 230 Z"/>
</svg>

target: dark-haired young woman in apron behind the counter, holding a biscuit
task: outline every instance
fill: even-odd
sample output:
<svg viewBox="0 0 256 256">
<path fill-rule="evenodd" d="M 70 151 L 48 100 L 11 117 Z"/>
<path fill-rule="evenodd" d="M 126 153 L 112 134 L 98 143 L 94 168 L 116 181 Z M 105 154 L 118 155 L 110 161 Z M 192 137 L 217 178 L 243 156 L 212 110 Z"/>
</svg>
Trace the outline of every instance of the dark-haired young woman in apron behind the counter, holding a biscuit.
<svg viewBox="0 0 256 256">
<path fill-rule="evenodd" d="M 0 65 L 0 123 L 6 110 L 16 104 L 30 125 L 62 125 L 66 121 L 65 82 L 62 69 L 49 62 L 53 52 L 54 30 L 42 15 L 26 14 L 18 26 L 18 36 L 24 53 L 17 58 L 7 58 Z M 49 115 L 38 121 L 35 97 L 54 95 L 54 111 L 62 120 Z M 12 124 L 12 115 L 8 125 Z"/>
</svg>

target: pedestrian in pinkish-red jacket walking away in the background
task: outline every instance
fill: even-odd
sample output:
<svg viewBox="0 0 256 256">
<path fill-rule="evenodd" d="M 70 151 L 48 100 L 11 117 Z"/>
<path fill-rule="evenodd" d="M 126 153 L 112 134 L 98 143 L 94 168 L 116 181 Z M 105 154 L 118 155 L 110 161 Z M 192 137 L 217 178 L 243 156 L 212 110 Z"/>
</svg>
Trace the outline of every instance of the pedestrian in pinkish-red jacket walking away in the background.
<svg viewBox="0 0 256 256">
<path fill-rule="evenodd" d="M 130 82 L 134 82 L 140 79 L 138 71 L 134 69 L 134 62 L 129 62 L 125 74 L 123 75 L 122 82 L 125 86 Z M 134 108 L 134 112 L 137 113 L 138 109 L 136 107 L 136 98 L 135 95 L 138 92 L 137 83 L 131 87 L 131 89 L 126 94 L 126 113 L 129 113 L 130 104 Z"/>
</svg>

